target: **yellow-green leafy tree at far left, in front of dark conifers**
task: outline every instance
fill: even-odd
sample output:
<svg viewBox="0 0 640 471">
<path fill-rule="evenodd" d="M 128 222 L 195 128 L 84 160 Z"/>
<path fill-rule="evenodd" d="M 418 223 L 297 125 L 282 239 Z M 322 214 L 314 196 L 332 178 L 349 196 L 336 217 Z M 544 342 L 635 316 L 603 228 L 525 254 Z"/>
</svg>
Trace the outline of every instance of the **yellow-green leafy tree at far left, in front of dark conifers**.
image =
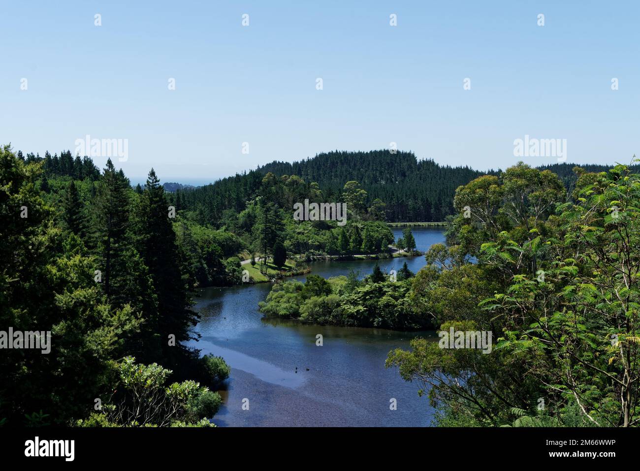
<svg viewBox="0 0 640 471">
<path fill-rule="evenodd" d="M 52 333 L 46 354 L 44 344 L 0 354 L 0 422 L 11 427 L 82 417 L 123 354 L 119 340 L 138 327 L 130 309 L 102 304 L 92 258 L 56 251 L 53 211 L 33 186 L 41 167 L 0 147 L 0 326 Z"/>
</svg>

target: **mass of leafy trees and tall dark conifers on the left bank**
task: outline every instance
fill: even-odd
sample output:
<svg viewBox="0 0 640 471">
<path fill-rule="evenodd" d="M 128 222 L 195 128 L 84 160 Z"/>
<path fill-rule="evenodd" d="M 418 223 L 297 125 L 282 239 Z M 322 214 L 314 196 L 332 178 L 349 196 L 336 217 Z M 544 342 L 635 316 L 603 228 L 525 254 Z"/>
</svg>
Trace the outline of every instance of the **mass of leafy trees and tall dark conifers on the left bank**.
<svg viewBox="0 0 640 471">
<path fill-rule="evenodd" d="M 167 374 L 176 379 L 196 374 L 198 352 L 180 344 L 195 320 L 186 258 L 154 172 L 136 192 L 110 160 L 100 175 L 88 158 L 25 160 L 5 146 L 0 202 L 0 324 L 51 332 L 47 354 L 0 356 L 3 424 L 86 419 L 95 397 L 113 391 L 116 361 L 132 352 L 175 367 Z"/>
</svg>

